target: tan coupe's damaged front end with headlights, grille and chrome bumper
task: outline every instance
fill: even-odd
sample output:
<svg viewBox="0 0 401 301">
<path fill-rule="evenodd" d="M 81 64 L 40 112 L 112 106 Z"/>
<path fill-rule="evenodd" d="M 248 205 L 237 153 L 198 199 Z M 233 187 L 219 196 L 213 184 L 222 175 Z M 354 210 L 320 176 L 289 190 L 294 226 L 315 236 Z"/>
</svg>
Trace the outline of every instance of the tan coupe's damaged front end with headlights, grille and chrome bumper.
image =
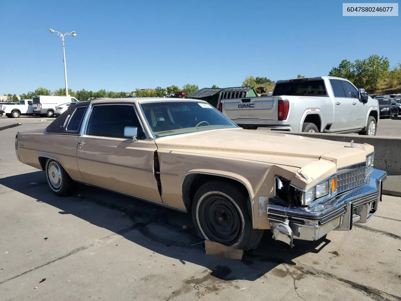
<svg viewBox="0 0 401 301">
<path fill-rule="evenodd" d="M 366 223 L 377 213 L 386 177 L 373 168 L 373 154 L 307 190 L 276 175 L 275 196 L 267 204 L 273 238 L 293 247 L 294 239 L 318 240 L 331 230 L 349 231 L 354 223 Z"/>
</svg>

